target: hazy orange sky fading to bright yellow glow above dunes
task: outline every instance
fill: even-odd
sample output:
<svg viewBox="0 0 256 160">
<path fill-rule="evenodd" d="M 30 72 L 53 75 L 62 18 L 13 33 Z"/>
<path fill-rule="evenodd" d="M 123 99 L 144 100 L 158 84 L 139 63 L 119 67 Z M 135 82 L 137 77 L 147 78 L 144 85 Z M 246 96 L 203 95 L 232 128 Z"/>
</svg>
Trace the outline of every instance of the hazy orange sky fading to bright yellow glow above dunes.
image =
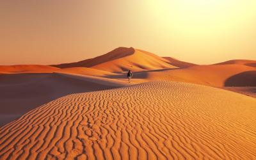
<svg viewBox="0 0 256 160">
<path fill-rule="evenodd" d="M 0 0 L 0 65 L 135 47 L 199 64 L 256 60 L 255 0 Z"/>
</svg>

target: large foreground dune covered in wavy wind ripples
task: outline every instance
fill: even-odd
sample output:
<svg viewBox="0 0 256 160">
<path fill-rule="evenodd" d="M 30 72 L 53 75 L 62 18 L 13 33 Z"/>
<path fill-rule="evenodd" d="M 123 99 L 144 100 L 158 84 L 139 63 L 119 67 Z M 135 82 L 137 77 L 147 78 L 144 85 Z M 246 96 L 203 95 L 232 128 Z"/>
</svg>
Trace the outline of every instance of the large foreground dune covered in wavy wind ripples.
<svg viewBox="0 0 256 160">
<path fill-rule="evenodd" d="M 256 99 L 158 81 L 53 100 L 0 129 L 0 159 L 255 159 Z"/>
</svg>

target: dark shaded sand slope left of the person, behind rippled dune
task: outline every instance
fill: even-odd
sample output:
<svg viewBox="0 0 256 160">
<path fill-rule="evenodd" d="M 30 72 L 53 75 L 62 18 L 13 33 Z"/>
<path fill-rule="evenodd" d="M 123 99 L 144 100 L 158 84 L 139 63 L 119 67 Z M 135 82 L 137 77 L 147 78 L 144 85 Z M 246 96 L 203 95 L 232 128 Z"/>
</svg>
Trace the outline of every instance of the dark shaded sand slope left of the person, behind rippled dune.
<svg viewBox="0 0 256 160">
<path fill-rule="evenodd" d="M 0 126 L 51 100 L 71 93 L 125 86 L 118 80 L 75 74 L 0 75 Z"/>
</svg>

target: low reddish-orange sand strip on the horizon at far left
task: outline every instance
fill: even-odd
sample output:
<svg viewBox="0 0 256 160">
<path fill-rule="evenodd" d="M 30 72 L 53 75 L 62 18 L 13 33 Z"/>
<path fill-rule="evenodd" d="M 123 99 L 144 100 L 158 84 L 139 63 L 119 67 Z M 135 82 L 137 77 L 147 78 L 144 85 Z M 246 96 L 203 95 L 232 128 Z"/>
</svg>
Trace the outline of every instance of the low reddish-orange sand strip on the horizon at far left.
<svg viewBox="0 0 256 160">
<path fill-rule="evenodd" d="M 0 66 L 0 73 L 15 74 L 15 73 L 51 73 L 60 68 L 47 65 L 10 65 Z"/>
</svg>

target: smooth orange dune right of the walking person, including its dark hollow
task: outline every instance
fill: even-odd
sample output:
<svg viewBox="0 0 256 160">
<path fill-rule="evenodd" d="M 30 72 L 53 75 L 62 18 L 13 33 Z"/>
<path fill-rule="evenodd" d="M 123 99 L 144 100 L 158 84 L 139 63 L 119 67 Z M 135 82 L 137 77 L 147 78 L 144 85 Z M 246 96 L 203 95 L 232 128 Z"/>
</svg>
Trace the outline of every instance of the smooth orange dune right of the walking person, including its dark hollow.
<svg viewBox="0 0 256 160">
<path fill-rule="evenodd" d="M 208 86 L 256 86 L 255 71 L 255 67 L 237 64 L 196 65 L 188 68 L 163 70 L 158 72 L 141 72 L 137 77 L 148 79 L 150 81 L 184 81 Z M 250 74 L 246 74 L 246 72 L 250 72 Z M 239 76 L 241 73 L 244 74 Z M 228 79 L 232 79 L 231 82 L 233 83 L 229 83 Z"/>
</svg>

